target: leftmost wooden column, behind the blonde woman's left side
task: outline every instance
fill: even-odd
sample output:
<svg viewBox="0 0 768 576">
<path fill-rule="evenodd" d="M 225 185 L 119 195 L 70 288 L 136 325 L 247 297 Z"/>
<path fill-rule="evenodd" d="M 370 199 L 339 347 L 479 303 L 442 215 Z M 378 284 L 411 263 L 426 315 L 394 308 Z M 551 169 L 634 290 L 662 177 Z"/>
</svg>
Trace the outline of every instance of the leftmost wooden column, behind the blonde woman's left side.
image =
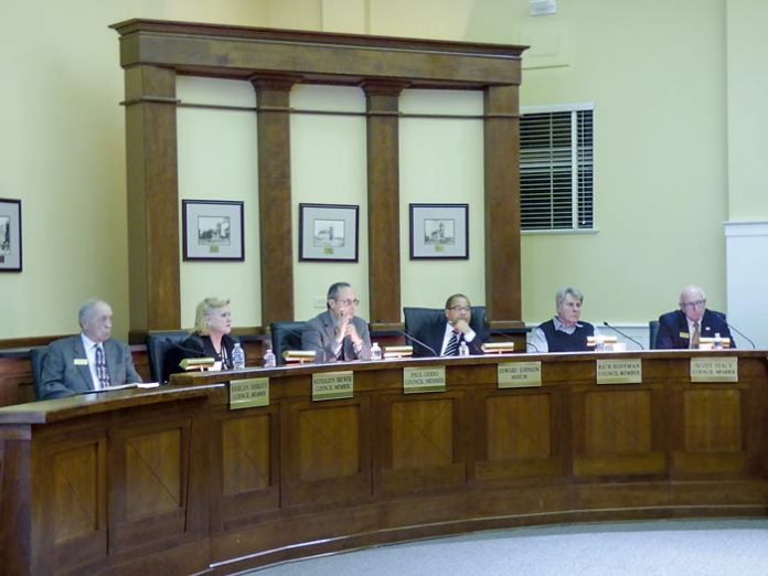
<svg viewBox="0 0 768 576">
<path fill-rule="evenodd" d="M 129 339 L 137 343 L 181 324 L 175 71 L 137 65 L 125 79 Z"/>
</svg>

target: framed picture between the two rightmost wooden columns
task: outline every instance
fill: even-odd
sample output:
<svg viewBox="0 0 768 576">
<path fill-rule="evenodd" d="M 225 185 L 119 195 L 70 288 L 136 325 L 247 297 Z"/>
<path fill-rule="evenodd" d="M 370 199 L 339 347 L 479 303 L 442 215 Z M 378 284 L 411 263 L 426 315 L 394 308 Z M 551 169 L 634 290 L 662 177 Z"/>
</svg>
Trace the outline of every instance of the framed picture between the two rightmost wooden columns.
<svg viewBox="0 0 768 576">
<path fill-rule="evenodd" d="M 410 259 L 469 258 L 469 204 L 410 204 Z"/>
</svg>

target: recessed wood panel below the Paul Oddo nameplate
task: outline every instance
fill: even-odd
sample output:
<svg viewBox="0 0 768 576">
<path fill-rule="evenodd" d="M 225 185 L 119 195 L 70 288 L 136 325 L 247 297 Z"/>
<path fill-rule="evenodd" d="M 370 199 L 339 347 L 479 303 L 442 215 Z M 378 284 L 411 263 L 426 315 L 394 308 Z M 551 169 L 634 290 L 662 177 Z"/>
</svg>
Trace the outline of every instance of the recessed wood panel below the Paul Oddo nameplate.
<svg viewBox="0 0 768 576">
<path fill-rule="evenodd" d="M 454 461 L 450 399 L 392 404 L 392 469 L 430 468 Z"/>
</svg>

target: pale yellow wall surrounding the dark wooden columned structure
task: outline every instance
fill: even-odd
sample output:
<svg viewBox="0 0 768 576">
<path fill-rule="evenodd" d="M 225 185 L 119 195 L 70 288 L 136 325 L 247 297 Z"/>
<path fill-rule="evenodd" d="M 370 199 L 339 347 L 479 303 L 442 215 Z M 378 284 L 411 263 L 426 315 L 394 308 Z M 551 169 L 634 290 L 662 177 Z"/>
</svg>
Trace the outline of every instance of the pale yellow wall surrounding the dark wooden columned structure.
<svg viewBox="0 0 768 576">
<path fill-rule="evenodd" d="M 644 322 L 673 308 L 689 282 L 724 309 L 723 223 L 768 215 L 764 4 L 561 0 L 558 14 L 532 18 L 527 0 L 14 2 L 0 20 L 0 198 L 22 200 L 24 270 L 0 274 L 0 339 L 73 332 L 77 306 L 92 296 L 114 305 L 116 333 L 127 332 L 122 71 L 107 26 L 130 18 L 533 40 L 522 104 L 595 104 L 598 232 L 524 236 L 523 320 L 547 317 L 566 282 L 586 292 L 585 318 L 597 321 Z M 417 265 L 403 262 L 410 299 L 420 290 Z M 351 274 L 364 278 L 364 266 Z M 185 269 L 182 294 L 193 302 L 196 273 Z M 317 291 L 302 291 L 300 276 L 297 311 Z M 472 281 L 470 291 L 480 290 Z M 445 291 L 428 290 L 429 302 Z"/>
</svg>

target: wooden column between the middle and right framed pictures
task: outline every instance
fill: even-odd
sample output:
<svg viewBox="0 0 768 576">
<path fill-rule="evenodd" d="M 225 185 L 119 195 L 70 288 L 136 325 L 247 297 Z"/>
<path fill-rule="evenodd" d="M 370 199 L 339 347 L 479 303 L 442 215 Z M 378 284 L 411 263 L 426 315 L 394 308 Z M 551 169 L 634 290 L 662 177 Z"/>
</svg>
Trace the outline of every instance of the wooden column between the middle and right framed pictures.
<svg viewBox="0 0 768 576">
<path fill-rule="evenodd" d="M 403 82 L 365 82 L 371 328 L 399 328 L 399 94 Z"/>
</svg>

